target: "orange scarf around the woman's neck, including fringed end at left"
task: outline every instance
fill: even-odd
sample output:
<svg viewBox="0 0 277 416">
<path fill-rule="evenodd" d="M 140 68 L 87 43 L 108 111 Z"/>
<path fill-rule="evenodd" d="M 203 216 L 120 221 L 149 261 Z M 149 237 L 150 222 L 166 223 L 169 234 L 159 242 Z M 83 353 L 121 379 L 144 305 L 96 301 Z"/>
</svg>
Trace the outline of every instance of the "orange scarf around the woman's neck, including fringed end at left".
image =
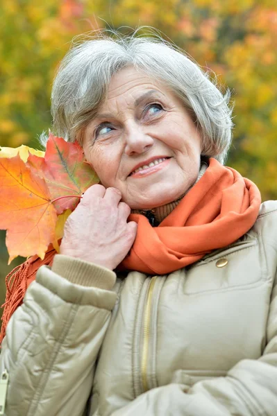
<svg viewBox="0 0 277 416">
<path fill-rule="evenodd" d="M 249 231 L 258 216 L 260 202 L 260 191 L 253 182 L 210 158 L 199 182 L 158 227 L 151 227 L 141 214 L 131 214 L 129 219 L 138 225 L 137 236 L 119 270 L 165 275 L 188 266 Z M 7 276 L 0 342 L 37 269 L 42 264 L 51 265 L 55 254 L 49 248 L 44 260 L 31 257 Z"/>
</svg>

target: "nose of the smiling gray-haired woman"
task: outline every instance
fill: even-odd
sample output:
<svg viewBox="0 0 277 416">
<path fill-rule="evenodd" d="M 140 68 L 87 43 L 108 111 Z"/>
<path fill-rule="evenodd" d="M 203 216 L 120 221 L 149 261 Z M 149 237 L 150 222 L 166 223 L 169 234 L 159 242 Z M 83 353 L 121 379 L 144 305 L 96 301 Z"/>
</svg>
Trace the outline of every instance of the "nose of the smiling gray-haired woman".
<svg viewBox="0 0 277 416">
<path fill-rule="evenodd" d="M 128 156 L 144 153 L 153 146 L 153 139 L 140 126 L 134 126 L 126 132 L 125 153 Z"/>
</svg>

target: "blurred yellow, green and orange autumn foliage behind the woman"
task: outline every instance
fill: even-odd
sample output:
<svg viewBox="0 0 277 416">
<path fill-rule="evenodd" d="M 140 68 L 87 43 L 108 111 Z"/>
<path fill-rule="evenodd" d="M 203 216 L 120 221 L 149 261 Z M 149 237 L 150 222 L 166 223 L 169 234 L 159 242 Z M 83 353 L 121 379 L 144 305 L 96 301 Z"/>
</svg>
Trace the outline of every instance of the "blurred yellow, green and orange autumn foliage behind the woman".
<svg viewBox="0 0 277 416">
<path fill-rule="evenodd" d="M 51 126 L 53 76 L 72 37 L 148 25 L 233 89 L 227 164 L 258 184 L 263 200 L 277 199 L 276 0 L 2 0 L 0 19 L 1 146 L 39 147 L 37 135 Z M 1 303 L 4 277 L 23 260 L 7 266 L 4 239 L 1 231 Z"/>
</svg>

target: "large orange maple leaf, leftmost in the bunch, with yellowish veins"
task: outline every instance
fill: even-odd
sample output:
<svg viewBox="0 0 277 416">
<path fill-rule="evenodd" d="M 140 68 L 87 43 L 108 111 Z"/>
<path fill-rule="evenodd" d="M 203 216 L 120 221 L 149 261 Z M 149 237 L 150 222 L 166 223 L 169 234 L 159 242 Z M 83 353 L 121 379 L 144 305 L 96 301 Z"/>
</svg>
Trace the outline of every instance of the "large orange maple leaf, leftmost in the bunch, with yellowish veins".
<svg viewBox="0 0 277 416">
<path fill-rule="evenodd" d="M 9 263 L 33 254 L 43 259 L 57 221 L 47 184 L 16 155 L 0 158 L 0 191 L 0 229 L 7 229 Z"/>
</svg>

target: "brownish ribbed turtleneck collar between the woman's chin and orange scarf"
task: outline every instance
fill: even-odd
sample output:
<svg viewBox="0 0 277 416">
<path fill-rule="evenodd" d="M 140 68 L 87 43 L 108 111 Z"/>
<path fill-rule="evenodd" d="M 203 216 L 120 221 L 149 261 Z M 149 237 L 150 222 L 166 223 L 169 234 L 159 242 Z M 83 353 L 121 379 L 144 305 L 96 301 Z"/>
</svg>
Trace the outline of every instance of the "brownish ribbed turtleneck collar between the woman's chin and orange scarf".
<svg viewBox="0 0 277 416">
<path fill-rule="evenodd" d="M 187 194 L 192 187 L 201 179 L 201 177 L 204 175 L 206 169 L 208 168 L 208 164 L 206 162 L 201 162 L 199 174 L 197 176 L 196 181 L 194 184 L 183 193 L 177 200 L 169 202 L 168 204 L 162 205 L 161 207 L 156 207 L 152 209 L 132 209 L 132 214 L 142 214 L 144 216 L 147 216 L 146 213 L 151 213 L 155 217 L 155 222 L 160 224 L 162 220 L 164 220 L 173 210 L 177 207 L 178 203 L 184 198 L 184 196 Z"/>
</svg>

